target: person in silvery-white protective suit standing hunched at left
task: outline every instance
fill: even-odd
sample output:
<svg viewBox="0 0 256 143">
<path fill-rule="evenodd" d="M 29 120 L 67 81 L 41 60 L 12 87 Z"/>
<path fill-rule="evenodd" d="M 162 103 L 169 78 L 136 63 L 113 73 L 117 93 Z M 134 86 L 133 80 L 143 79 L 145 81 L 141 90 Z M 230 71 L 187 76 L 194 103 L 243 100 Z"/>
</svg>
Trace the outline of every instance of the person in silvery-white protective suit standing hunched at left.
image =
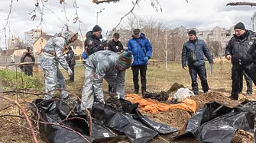
<svg viewBox="0 0 256 143">
<path fill-rule="evenodd" d="M 63 56 L 64 47 L 78 39 L 78 33 L 73 30 L 66 30 L 63 33 L 57 33 L 47 41 L 43 49 L 43 55 L 40 62 L 45 74 L 45 91 L 51 91 L 56 88 L 66 88 L 65 78 L 60 71 L 59 64 L 67 71 L 68 75 L 73 75 L 72 70 Z M 54 92 L 45 94 L 44 99 L 53 97 Z M 69 98 L 66 91 L 60 91 L 63 99 Z"/>
</svg>

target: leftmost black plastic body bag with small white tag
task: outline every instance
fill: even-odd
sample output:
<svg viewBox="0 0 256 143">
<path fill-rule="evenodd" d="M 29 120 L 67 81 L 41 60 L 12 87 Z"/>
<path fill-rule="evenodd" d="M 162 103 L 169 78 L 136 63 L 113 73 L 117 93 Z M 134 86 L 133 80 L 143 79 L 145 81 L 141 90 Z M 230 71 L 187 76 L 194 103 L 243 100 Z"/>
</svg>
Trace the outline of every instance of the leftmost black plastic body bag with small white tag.
<svg viewBox="0 0 256 143">
<path fill-rule="evenodd" d="M 57 123 L 63 119 L 66 119 L 68 113 L 70 113 L 70 107 L 61 100 L 35 100 L 41 120 L 43 122 Z M 36 115 L 36 110 L 34 110 Z M 77 117 L 71 114 L 70 117 Z M 86 116 L 79 116 L 86 119 Z M 81 133 L 88 141 L 91 142 L 106 142 L 116 135 L 112 134 L 105 126 L 102 126 L 96 119 L 92 119 L 92 138 L 89 137 L 89 124 L 83 119 L 70 119 L 61 123 L 63 126 L 70 127 L 76 132 Z M 64 129 L 60 126 L 41 124 L 41 132 L 48 142 L 54 143 L 84 143 L 86 142 L 78 134 L 71 132 L 68 129 Z"/>
</svg>

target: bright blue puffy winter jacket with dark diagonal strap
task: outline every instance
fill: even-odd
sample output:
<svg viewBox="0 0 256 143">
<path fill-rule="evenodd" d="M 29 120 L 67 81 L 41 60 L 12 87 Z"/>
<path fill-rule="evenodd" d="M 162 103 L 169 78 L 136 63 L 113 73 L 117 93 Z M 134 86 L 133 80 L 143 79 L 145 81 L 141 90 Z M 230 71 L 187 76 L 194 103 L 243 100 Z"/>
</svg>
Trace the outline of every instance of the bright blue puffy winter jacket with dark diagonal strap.
<svg viewBox="0 0 256 143">
<path fill-rule="evenodd" d="M 144 33 L 141 33 L 141 37 L 139 37 L 138 42 L 143 46 L 144 51 L 141 49 L 141 46 L 136 42 L 136 38 L 132 36 L 131 40 L 127 43 L 127 51 L 131 51 L 134 57 L 134 62 L 132 65 L 147 65 L 147 61 L 144 61 L 144 58 L 147 56 L 148 59 L 151 59 L 152 55 L 152 46 L 151 42 L 145 37 Z"/>
</svg>

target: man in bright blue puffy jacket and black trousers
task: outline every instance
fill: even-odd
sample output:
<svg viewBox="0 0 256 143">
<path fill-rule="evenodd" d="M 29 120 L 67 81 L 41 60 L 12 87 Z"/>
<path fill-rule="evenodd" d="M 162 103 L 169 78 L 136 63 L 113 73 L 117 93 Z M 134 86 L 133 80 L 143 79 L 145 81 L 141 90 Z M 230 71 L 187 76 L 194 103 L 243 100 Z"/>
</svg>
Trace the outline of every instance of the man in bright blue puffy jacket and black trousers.
<svg viewBox="0 0 256 143">
<path fill-rule="evenodd" d="M 134 61 L 131 65 L 134 82 L 134 94 L 138 94 L 138 74 L 141 75 L 141 93 L 147 90 L 147 61 L 151 59 L 152 46 L 151 42 L 145 37 L 144 33 L 141 33 L 140 29 L 134 29 L 131 40 L 127 43 L 127 51 L 131 51 L 134 56 Z"/>
</svg>

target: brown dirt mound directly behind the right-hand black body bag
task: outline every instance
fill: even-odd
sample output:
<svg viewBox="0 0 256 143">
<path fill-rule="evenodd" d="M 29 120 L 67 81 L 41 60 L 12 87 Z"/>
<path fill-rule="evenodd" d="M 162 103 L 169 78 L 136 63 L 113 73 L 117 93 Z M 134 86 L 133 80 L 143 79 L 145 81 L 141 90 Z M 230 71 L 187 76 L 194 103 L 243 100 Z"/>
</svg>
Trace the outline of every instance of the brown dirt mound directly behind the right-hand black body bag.
<svg viewBox="0 0 256 143">
<path fill-rule="evenodd" d="M 230 107 L 236 106 L 239 103 L 241 103 L 241 101 L 231 100 L 230 98 L 226 97 L 224 94 L 221 94 L 219 92 L 209 92 L 206 94 L 199 94 L 194 97 L 191 97 L 191 99 L 196 101 L 197 110 L 202 109 L 203 106 L 209 102 L 217 102 Z"/>
</svg>

